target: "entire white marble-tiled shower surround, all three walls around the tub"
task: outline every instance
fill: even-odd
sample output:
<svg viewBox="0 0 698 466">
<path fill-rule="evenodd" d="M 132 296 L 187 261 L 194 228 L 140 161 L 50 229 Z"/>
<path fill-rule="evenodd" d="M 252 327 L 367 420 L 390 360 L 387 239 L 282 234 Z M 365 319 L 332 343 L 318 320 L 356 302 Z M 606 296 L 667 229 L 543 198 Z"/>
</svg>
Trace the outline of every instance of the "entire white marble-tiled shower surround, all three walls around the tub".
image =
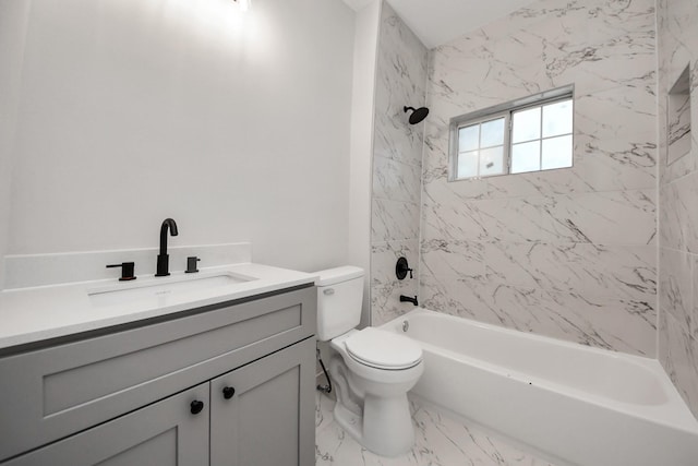
<svg viewBox="0 0 698 466">
<path fill-rule="evenodd" d="M 697 28 L 691 1 L 542 0 L 426 52 L 383 2 L 373 324 L 412 309 L 406 255 L 425 308 L 657 357 L 698 416 L 698 131 L 667 164 L 663 130 L 686 65 L 698 121 Z M 450 118 L 567 84 L 573 168 L 447 181 Z"/>
</svg>

